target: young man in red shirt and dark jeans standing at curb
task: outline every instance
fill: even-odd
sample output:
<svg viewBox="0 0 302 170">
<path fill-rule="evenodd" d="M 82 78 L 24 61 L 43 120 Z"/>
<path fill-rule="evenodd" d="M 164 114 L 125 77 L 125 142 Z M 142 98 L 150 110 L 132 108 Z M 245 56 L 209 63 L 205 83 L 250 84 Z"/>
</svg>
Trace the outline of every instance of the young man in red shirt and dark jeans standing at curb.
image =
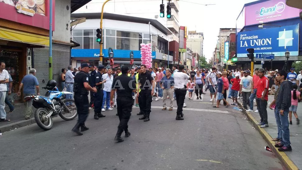
<svg viewBox="0 0 302 170">
<path fill-rule="evenodd" d="M 267 121 L 267 100 L 268 100 L 268 86 L 269 82 L 268 79 L 264 76 L 265 70 L 260 68 L 258 70 L 259 80 L 257 82 L 257 92 L 256 92 L 256 103 L 257 103 L 257 110 L 259 111 L 260 115 L 260 127 L 265 128 L 268 127 Z"/>
</svg>

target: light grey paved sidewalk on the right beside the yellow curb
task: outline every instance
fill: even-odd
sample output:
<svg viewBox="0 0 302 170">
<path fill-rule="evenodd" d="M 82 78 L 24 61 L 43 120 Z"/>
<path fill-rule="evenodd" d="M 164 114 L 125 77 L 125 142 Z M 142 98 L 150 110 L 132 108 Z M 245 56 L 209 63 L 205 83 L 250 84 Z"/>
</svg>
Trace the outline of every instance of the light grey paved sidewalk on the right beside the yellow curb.
<svg viewBox="0 0 302 170">
<path fill-rule="evenodd" d="M 269 95 L 268 104 L 267 104 L 267 117 L 268 117 L 269 127 L 267 127 L 267 128 L 260 128 L 260 126 L 258 127 L 258 130 L 259 130 L 260 133 L 262 133 L 261 131 L 267 132 L 267 134 L 268 134 L 267 138 L 269 138 L 269 139 L 266 139 L 266 140 L 272 142 L 272 144 L 274 144 L 274 142 L 271 141 L 271 139 L 276 138 L 277 137 L 277 132 L 278 132 L 274 110 L 269 109 L 269 104 L 271 103 L 273 98 L 274 98 L 273 95 Z M 240 102 L 242 103 L 242 99 L 240 99 Z M 255 104 L 256 103 L 254 102 L 254 110 L 257 109 L 257 106 L 255 106 Z M 298 109 L 297 109 L 297 114 L 298 114 L 298 117 L 299 117 L 300 120 L 302 119 L 301 108 L 302 108 L 302 103 L 300 102 L 300 103 L 298 103 Z M 248 116 L 252 116 L 254 118 L 254 120 L 257 120 L 256 123 L 260 122 L 259 113 L 255 113 L 255 112 L 246 112 L 246 113 L 247 113 Z M 301 158 L 302 158 L 302 124 L 300 123 L 300 125 L 297 125 L 296 124 L 296 118 L 295 118 L 294 114 L 292 114 L 292 116 L 293 116 L 293 118 L 292 118 L 293 125 L 289 126 L 289 129 L 290 129 L 290 143 L 291 143 L 292 151 L 284 152 L 285 153 L 284 154 L 283 152 L 279 152 L 278 150 L 273 149 L 273 148 L 275 148 L 274 146 L 272 146 L 273 148 L 270 146 L 270 148 L 273 149 L 273 151 L 275 150 L 274 153 L 276 154 L 276 156 L 278 156 L 278 154 L 279 154 L 279 156 L 282 157 L 282 154 L 284 154 L 284 155 L 288 156 L 289 159 L 292 162 L 294 162 L 295 165 L 299 169 L 302 169 L 302 161 L 301 161 Z M 252 121 L 252 123 L 254 124 L 253 121 Z M 255 124 L 254 124 L 254 127 L 255 127 Z M 255 128 L 257 129 L 257 127 L 255 127 Z M 264 136 L 263 134 L 261 134 L 261 135 L 263 136 L 263 138 L 266 138 L 266 136 Z M 263 146 L 263 148 L 264 148 L 264 146 Z M 284 160 L 284 157 L 282 157 L 281 159 Z M 289 161 L 285 160 L 286 162 L 283 162 L 283 163 L 289 163 L 290 164 L 290 162 L 291 162 L 290 160 Z M 295 166 L 293 166 L 293 167 L 295 167 Z"/>
</svg>

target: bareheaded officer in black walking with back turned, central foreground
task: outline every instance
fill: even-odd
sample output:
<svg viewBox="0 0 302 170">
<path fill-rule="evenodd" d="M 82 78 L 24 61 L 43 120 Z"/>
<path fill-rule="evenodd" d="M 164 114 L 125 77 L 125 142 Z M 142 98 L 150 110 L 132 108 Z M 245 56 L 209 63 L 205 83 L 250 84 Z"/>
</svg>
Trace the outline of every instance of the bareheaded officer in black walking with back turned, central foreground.
<svg viewBox="0 0 302 170">
<path fill-rule="evenodd" d="M 132 111 L 132 92 L 136 92 L 136 87 L 133 78 L 127 75 L 128 67 L 122 66 L 121 72 L 122 74 L 116 77 L 112 83 L 112 90 L 110 95 L 110 104 L 114 105 L 113 96 L 116 90 L 117 93 L 117 114 L 120 119 L 120 124 L 118 126 L 118 130 L 114 140 L 118 142 L 123 142 L 120 136 L 125 131 L 125 137 L 130 136 L 130 132 L 128 131 L 128 121 L 131 116 Z"/>
</svg>

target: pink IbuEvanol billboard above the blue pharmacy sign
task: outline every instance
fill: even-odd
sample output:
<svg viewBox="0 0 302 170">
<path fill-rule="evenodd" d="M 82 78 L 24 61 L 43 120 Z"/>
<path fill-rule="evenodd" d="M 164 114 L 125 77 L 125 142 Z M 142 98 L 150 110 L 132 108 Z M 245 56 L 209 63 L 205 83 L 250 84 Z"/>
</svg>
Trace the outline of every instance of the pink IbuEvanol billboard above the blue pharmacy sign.
<svg viewBox="0 0 302 170">
<path fill-rule="evenodd" d="M 299 17 L 300 9 L 287 6 L 285 1 L 270 0 L 245 7 L 245 25 Z"/>
</svg>

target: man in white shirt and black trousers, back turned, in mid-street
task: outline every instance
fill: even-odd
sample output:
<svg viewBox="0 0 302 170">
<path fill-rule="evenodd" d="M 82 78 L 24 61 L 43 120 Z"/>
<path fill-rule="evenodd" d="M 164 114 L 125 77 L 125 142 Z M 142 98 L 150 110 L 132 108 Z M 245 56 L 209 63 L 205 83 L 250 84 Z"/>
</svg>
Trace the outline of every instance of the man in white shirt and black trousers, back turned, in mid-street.
<svg viewBox="0 0 302 170">
<path fill-rule="evenodd" d="M 176 120 L 183 120 L 182 107 L 186 97 L 186 84 L 187 80 L 190 78 L 189 75 L 183 73 L 183 65 L 179 65 L 179 71 L 174 73 L 174 91 L 176 96 L 177 111 L 176 111 Z M 190 85 L 190 83 L 189 83 Z"/>
</svg>

